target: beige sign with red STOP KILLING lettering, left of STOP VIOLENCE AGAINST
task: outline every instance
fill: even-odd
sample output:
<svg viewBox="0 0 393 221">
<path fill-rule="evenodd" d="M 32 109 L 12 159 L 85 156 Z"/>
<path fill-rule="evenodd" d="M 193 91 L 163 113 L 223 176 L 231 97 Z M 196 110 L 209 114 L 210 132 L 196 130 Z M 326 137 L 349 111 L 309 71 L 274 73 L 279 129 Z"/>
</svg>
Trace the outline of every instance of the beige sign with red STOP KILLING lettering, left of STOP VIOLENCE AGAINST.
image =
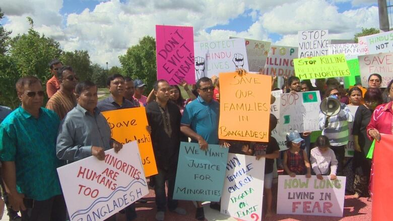
<svg viewBox="0 0 393 221">
<path fill-rule="evenodd" d="M 289 78 L 295 76 L 293 59 L 297 58 L 297 47 L 272 45 L 269 50 L 263 75 Z"/>
</svg>

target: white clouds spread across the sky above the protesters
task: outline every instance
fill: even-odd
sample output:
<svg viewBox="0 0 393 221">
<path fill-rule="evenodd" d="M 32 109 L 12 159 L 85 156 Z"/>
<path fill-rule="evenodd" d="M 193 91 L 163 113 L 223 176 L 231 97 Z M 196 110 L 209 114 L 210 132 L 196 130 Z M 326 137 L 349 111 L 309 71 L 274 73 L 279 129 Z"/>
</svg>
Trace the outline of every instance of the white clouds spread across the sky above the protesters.
<svg viewBox="0 0 393 221">
<path fill-rule="evenodd" d="M 343 0 L 341 0 L 343 1 Z M 344 0 L 345 1 L 345 0 Z M 275 42 L 297 45 L 297 31 L 329 29 L 335 38 L 352 38 L 361 27 L 378 27 L 376 7 L 343 13 L 330 0 L 119 0 L 97 1 L 94 9 L 60 15 L 62 0 L 6 0 L 2 3 L 13 35 L 24 33 L 34 20 L 35 29 L 59 41 L 64 50 L 88 50 L 93 62 L 119 65 L 118 55 L 143 36 L 155 37 L 155 25 L 193 26 L 194 40 L 226 39 L 229 36 L 269 40 L 269 33 L 282 35 Z M 338 2 L 338 1 L 336 1 Z M 355 3 L 366 0 L 354 0 Z M 253 24 L 245 31 L 207 28 L 229 24 L 231 19 L 249 16 Z"/>
</svg>

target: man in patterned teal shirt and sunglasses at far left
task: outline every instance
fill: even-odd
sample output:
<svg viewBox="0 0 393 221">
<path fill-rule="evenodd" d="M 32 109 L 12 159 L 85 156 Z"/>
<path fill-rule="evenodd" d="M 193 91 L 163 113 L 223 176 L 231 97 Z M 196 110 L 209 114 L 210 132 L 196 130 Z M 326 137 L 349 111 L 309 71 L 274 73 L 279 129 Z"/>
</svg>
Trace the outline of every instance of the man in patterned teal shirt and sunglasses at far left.
<svg viewBox="0 0 393 221">
<path fill-rule="evenodd" d="M 59 118 L 42 108 L 44 92 L 36 77 L 16 84 L 21 106 L 0 124 L 2 174 L 14 210 L 22 220 L 65 220 L 56 168 Z"/>
</svg>

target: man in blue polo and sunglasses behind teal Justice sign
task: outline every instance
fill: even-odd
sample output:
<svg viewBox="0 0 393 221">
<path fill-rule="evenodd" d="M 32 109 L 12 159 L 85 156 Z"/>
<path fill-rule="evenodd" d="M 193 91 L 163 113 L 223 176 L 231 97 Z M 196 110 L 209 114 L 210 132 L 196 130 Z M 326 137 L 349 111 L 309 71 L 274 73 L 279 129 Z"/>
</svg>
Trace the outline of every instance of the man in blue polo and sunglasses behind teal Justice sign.
<svg viewBox="0 0 393 221">
<path fill-rule="evenodd" d="M 181 118 L 180 130 L 198 142 L 202 150 L 208 149 L 208 144 L 218 144 L 218 120 L 220 104 L 213 100 L 214 86 L 212 80 L 203 77 L 197 82 L 198 98 L 185 106 Z M 197 202 L 195 218 L 205 219 L 201 202 Z"/>
</svg>

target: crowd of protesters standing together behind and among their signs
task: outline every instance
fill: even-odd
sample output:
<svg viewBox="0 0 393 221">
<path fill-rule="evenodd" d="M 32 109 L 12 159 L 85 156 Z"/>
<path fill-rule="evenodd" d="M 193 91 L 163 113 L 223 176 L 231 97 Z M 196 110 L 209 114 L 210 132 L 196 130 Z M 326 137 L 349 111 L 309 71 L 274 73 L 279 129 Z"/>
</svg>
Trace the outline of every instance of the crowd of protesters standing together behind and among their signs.
<svg viewBox="0 0 393 221">
<path fill-rule="evenodd" d="M 282 89 L 284 93 L 319 91 L 321 98 L 340 101 L 340 111 L 335 116 L 319 116 L 321 134 L 311 140 L 311 131 L 291 131 L 286 135 L 288 150 L 280 156 L 280 148 L 271 133 L 269 142 L 221 140 L 218 137 L 220 115 L 219 79 L 203 77 L 191 88 L 183 82 L 171 86 L 165 80 L 157 81 L 148 97 L 144 96 L 146 84 L 119 74 L 107 79 L 109 97 L 98 101 L 97 86 L 91 81 L 78 83 L 77 73 L 71 66 L 53 60 L 49 65 L 53 77 L 46 83 L 49 97 L 45 108 L 45 93 L 36 77 L 23 77 L 16 83 L 21 105 L 15 110 L 0 107 L 0 160 L 2 162 L 3 196 L 10 220 L 66 220 L 67 212 L 56 168 L 94 156 L 104 160 L 105 151 L 113 148 L 121 154 L 122 144 L 111 137 L 109 125 L 101 112 L 123 108 L 146 107 L 153 151 L 158 174 L 150 177 L 155 191 L 156 219 L 164 220 L 165 212 L 186 214 L 173 199 L 180 141 L 199 143 L 202 150 L 209 144 L 221 144 L 229 152 L 265 158 L 264 192 L 266 216 L 271 216 L 273 201 L 273 171 L 275 159 L 282 162 L 284 174 L 291 177 L 305 175 L 353 176 L 347 190 L 356 197 L 372 198 L 372 160 L 366 158 L 373 139 L 380 133 L 393 132 L 392 82 L 380 88 L 382 78 L 373 74 L 368 88 L 354 85 L 349 91 L 335 79 L 317 79 L 315 88 L 310 81 L 289 77 Z M 181 95 L 182 87 L 188 99 Z M 365 93 L 363 93 L 366 91 Z M 272 100 L 273 101 L 273 100 Z M 348 106 L 358 106 L 352 114 Z M 352 134 L 348 123 L 353 122 Z M 277 118 L 271 114 L 270 131 L 276 128 Z M 348 159 L 345 146 L 349 137 L 354 140 L 353 169 L 345 174 Z M 279 168 L 280 168 L 280 163 Z M 167 183 L 168 193 L 165 185 Z M 262 196 L 260 196 L 262 197 Z M 3 201 L 2 201 L 3 202 Z M 143 202 L 143 201 L 141 201 Z M 0 204 L 2 206 L 2 204 Z M 4 207 L 4 202 L 3 202 Z M 220 202 L 210 207 L 220 210 Z M 19 217 L 18 211 L 22 217 Z M 124 210 L 127 220 L 137 217 L 135 205 Z M 197 202 L 195 218 L 205 219 L 202 202 Z M 179 218 L 181 219 L 181 218 Z M 115 220 L 115 215 L 106 220 Z"/>
</svg>

